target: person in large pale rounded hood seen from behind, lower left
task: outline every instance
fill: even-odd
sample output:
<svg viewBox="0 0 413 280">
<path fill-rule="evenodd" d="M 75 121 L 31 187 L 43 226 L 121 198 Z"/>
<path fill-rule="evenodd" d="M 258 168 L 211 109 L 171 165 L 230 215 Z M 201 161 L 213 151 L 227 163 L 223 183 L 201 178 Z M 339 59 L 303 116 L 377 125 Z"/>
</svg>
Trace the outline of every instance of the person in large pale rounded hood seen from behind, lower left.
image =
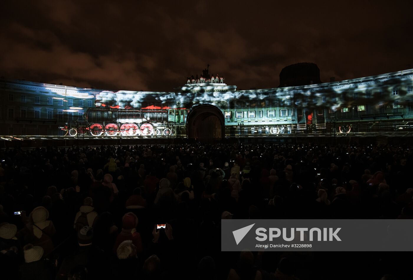
<svg viewBox="0 0 413 280">
<path fill-rule="evenodd" d="M 21 230 L 25 241 L 42 247 L 45 256 L 54 249 L 52 237 L 56 233 L 55 225 L 48 218 L 49 211 L 45 207 L 36 207 L 31 211 L 26 227 Z"/>
</svg>

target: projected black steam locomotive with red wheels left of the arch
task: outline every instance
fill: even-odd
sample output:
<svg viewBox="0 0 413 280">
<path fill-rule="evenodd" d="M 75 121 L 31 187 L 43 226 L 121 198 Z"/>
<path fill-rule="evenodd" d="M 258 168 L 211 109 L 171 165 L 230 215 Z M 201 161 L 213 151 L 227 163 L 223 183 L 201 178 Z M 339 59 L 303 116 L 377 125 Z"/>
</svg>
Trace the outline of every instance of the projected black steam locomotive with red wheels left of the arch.
<svg viewBox="0 0 413 280">
<path fill-rule="evenodd" d="M 185 109 L 89 108 L 81 119 L 67 126 L 67 135 L 176 136 Z"/>
</svg>

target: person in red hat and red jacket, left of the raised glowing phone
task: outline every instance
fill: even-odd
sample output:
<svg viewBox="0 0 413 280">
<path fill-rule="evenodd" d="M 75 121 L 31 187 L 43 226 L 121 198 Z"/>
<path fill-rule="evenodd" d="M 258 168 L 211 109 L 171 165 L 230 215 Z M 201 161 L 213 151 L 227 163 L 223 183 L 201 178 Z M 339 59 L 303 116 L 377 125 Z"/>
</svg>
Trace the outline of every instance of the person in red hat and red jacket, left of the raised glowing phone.
<svg viewBox="0 0 413 280">
<path fill-rule="evenodd" d="M 126 240 L 132 240 L 132 244 L 135 245 L 136 252 L 142 252 L 142 239 L 140 234 L 136 231 L 138 226 L 138 217 L 132 212 L 128 212 L 123 215 L 122 218 L 122 231 L 116 237 L 116 242 L 113 247 L 113 251 L 116 254 L 119 245 Z"/>
</svg>

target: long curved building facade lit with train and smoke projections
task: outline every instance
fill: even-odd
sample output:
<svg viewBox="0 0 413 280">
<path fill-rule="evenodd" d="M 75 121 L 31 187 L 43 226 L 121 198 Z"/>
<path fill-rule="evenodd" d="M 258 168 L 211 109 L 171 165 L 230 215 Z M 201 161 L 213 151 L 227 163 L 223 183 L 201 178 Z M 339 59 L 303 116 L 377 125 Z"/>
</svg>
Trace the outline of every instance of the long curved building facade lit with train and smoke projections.
<svg viewBox="0 0 413 280">
<path fill-rule="evenodd" d="M 209 69 L 171 92 L 1 81 L 0 134 L 204 140 L 413 132 L 413 69 L 254 90 L 226 82 Z"/>
</svg>

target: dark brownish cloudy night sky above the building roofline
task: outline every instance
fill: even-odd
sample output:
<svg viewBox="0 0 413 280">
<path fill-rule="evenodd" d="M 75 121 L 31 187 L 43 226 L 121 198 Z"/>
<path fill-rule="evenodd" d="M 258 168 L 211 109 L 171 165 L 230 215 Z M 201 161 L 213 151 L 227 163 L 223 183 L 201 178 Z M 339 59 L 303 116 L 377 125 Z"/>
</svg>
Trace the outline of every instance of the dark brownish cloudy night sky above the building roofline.
<svg viewBox="0 0 413 280">
<path fill-rule="evenodd" d="M 0 9 L 6 79 L 173 91 L 210 64 L 246 90 L 277 87 L 297 62 L 316 63 L 323 82 L 413 68 L 412 1 L 38 0 Z"/>
</svg>

